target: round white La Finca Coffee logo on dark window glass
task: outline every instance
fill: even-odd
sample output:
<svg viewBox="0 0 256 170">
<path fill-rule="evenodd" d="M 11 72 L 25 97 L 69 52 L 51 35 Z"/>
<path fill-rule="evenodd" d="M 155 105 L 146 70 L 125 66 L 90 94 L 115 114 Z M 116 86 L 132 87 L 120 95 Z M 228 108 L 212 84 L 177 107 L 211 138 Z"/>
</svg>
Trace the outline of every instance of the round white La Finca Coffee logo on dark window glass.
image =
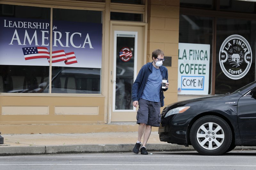
<svg viewBox="0 0 256 170">
<path fill-rule="evenodd" d="M 220 67 L 231 79 L 243 78 L 252 64 L 252 49 L 241 35 L 230 35 L 220 47 Z"/>
</svg>

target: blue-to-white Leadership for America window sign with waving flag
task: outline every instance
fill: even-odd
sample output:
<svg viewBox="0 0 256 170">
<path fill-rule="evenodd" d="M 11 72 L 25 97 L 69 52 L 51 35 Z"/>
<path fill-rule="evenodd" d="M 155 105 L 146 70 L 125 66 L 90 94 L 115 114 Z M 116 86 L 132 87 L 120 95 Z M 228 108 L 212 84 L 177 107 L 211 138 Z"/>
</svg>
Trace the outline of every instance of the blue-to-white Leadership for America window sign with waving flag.
<svg viewBox="0 0 256 170">
<path fill-rule="evenodd" d="M 49 20 L 0 17 L 1 65 L 49 66 L 50 29 Z M 101 58 L 102 24 L 53 21 L 52 66 L 101 68 Z"/>
</svg>

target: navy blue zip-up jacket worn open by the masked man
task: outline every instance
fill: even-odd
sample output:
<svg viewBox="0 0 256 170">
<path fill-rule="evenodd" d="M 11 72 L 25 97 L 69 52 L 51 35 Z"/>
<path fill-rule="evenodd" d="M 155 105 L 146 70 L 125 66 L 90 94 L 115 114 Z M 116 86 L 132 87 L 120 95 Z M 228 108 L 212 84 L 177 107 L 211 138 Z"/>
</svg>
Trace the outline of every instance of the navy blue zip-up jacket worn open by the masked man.
<svg viewBox="0 0 256 170">
<path fill-rule="evenodd" d="M 149 62 L 141 67 L 139 74 L 132 85 L 132 101 L 139 101 L 139 99 L 141 98 L 143 90 L 148 81 L 148 76 L 152 73 L 153 67 L 154 66 L 153 66 L 152 62 Z M 167 68 L 164 66 L 160 66 L 159 69 L 161 71 L 162 77 L 166 78 L 167 82 L 168 82 Z M 168 88 L 166 88 L 166 89 L 161 88 L 161 99 L 160 99 L 161 107 L 164 106 L 164 91 L 166 91 L 167 89 Z M 154 89 L 152 89 L 152 90 L 154 90 Z"/>
</svg>

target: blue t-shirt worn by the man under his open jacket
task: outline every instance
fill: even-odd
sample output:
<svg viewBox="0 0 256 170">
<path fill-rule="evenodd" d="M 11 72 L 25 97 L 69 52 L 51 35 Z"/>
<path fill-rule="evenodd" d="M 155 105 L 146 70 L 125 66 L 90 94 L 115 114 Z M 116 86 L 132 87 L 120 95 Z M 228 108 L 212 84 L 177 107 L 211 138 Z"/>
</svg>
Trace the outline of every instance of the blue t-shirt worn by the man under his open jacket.
<svg viewBox="0 0 256 170">
<path fill-rule="evenodd" d="M 148 101 L 160 102 L 162 79 L 160 69 L 153 66 L 152 73 L 148 76 L 148 81 L 141 98 Z"/>
</svg>

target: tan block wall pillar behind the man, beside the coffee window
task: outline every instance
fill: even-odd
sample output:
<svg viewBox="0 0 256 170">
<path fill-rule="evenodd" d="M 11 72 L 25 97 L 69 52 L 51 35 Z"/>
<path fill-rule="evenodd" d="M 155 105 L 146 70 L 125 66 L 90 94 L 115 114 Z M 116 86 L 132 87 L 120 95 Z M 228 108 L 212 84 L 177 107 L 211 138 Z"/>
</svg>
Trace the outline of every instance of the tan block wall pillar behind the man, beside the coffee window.
<svg viewBox="0 0 256 170">
<path fill-rule="evenodd" d="M 179 9 L 179 0 L 148 2 L 147 62 L 152 61 L 152 51 L 155 49 L 161 49 L 164 56 L 172 57 L 172 66 L 167 67 L 170 85 L 164 92 L 164 107 L 178 100 Z"/>
</svg>

